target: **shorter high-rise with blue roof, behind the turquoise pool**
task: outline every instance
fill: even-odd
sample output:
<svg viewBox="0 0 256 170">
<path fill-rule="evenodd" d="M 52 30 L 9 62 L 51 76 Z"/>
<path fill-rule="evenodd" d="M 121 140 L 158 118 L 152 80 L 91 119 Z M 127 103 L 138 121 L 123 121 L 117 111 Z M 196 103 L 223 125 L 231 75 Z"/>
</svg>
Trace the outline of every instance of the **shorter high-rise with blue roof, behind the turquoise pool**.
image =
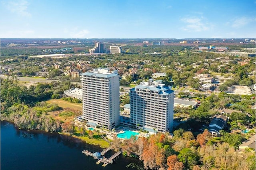
<svg viewBox="0 0 256 170">
<path fill-rule="evenodd" d="M 173 103 L 174 91 L 162 81 L 142 82 L 130 89 L 130 123 L 151 132 L 171 131 Z"/>
</svg>

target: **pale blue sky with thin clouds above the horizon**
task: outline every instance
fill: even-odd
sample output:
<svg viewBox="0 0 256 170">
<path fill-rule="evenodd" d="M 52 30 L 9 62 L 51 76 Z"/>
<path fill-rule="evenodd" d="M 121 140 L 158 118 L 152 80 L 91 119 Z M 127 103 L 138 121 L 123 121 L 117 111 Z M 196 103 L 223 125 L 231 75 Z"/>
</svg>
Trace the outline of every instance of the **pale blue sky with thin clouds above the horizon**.
<svg viewBox="0 0 256 170">
<path fill-rule="evenodd" d="M 256 0 L 0 0 L 0 38 L 255 38 Z"/>
</svg>

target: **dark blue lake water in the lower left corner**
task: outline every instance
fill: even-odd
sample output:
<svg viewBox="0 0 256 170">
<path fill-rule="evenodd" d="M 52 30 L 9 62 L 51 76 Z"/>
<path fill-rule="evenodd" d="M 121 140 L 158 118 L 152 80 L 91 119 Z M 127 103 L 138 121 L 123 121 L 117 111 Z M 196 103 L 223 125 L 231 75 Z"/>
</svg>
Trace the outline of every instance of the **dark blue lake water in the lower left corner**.
<svg viewBox="0 0 256 170">
<path fill-rule="evenodd" d="M 120 155 L 113 164 L 103 167 L 82 150 L 101 152 L 102 148 L 57 133 L 19 130 L 1 121 L 1 170 L 128 170 L 130 162 L 142 165 L 136 158 Z M 106 158 L 111 154 L 107 152 Z"/>
</svg>

